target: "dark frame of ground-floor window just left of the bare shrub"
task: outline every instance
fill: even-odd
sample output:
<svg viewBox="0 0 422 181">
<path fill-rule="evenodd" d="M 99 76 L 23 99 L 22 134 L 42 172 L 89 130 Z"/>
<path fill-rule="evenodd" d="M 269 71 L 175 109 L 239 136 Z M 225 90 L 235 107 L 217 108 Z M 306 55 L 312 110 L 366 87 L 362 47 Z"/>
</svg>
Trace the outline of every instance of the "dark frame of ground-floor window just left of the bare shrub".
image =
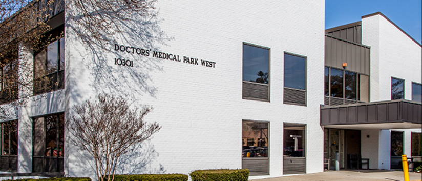
<svg viewBox="0 0 422 181">
<path fill-rule="evenodd" d="M 43 171 L 41 171 L 41 173 L 64 172 L 64 170 L 63 170 L 64 165 L 60 165 L 60 163 L 64 164 L 65 140 L 64 140 L 64 137 L 63 137 L 62 138 L 63 139 L 63 149 L 61 150 L 61 153 L 60 153 L 60 129 L 62 129 L 61 131 L 62 131 L 63 136 L 64 136 L 64 134 L 65 134 L 65 128 L 64 128 L 65 124 L 63 123 L 62 128 L 60 127 L 60 115 L 63 115 L 63 119 L 65 119 L 64 118 L 64 115 L 65 115 L 64 112 L 32 117 L 32 160 L 33 160 L 33 162 L 32 162 L 32 172 L 33 173 L 35 173 L 35 171 L 34 171 L 35 167 L 36 166 L 39 167 L 39 165 L 36 165 L 37 163 L 34 162 L 35 159 L 40 159 L 41 162 L 43 162 L 42 165 L 41 165 L 41 170 L 43 170 Z M 46 122 L 46 119 L 47 119 L 47 117 L 53 117 L 53 116 L 56 118 L 56 123 L 55 123 L 56 124 L 56 130 L 55 131 L 56 131 L 56 149 L 57 149 L 56 154 L 57 155 L 56 156 L 47 156 L 46 150 L 47 150 L 48 143 L 47 143 L 47 122 Z M 44 146 L 43 146 L 43 149 L 42 149 L 43 155 L 35 155 L 35 134 L 36 134 L 35 133 L 35 131 L 36 131 L 35 122 L 36 122 L 37 118 L 41 118 L 41 117 L 44 118 L 43 119 L 43 124 L 44 124 L 43 131 L 44 132 L 42 133 L 42 134 L 44 134 L 44 139 L 43 139 Z M 65 120 L 63 120 L 63 122 L 65 122 Z M 48 171 L 47 169 L 49 169 L 51 167 L 51 165 L 54 165 L 54 164 L 50 163 L 51 160 L 53 160 L 53 159 L 55 159 L 55 161 L 57 163 L 56 168 L 54 168 L 55 171 Z M 39 173 L 39 172 L 37 172 L 37 173 Z"/>
</svg>

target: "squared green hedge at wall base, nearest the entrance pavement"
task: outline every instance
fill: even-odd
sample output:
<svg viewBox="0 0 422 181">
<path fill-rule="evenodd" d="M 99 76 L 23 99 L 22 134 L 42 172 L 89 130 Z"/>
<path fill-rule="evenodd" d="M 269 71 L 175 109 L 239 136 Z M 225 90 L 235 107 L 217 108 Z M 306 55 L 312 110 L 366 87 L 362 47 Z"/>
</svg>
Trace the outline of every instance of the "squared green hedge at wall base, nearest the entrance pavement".
<svg viewBox="0 0 422 181">
<path fill-rule="evenodd" d="M 196 170 L 191 173 L 192 181 L 247 181 L 249 170 Z"/>
</svg>

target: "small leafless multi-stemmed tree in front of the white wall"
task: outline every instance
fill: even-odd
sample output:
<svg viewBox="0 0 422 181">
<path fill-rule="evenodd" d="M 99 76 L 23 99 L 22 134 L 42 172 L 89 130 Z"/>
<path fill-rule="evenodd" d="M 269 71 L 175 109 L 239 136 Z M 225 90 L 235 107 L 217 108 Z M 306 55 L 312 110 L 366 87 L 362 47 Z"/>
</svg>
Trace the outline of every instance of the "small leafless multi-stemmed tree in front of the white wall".
<svg viewBox="0 0 422 181">
<path fill-rule="evenodd" d="M 68 122 L 72 143 L 94 158 L 98 180 L 113 181 L 119 158 L 161 128 L 143 120 L 151 108 L 130 107 L 127 99 L 109 94 L 98 94 L 94 102 L 86 100 L 73 107 L 75 113 Z"/>
</svg>

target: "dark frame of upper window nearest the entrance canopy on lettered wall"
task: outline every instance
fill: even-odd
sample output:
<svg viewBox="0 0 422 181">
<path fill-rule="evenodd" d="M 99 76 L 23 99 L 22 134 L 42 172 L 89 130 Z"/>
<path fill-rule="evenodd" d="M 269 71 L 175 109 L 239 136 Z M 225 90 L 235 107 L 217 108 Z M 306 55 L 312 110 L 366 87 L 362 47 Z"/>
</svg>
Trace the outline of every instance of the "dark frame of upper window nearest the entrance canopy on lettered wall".
<svg viewBox="0 0 422 181">
<path fill-rule="evenodd" d="M 304 58 L 305 59 L 305 89 L 304 90 L 302 90 L 302 89 L 296 89 L 296 88 L 291 88 L 291 87 L 286 87 L 285 86 L 285 84 L 286 84 L 286 68 L 285 68 L 285 55 L 290 55 L 290 56 L 297 56 L 297 57 L 300 57 L 300 58 Z M 296 54 L 296 53 L 290 53 L 290 52 L 284 52 L 284 54 L 283 54 L 283 88 L 284 88 L 284 91 L 283 91 L 283 104 L 289 104 L 289 105 L 298 105 L 298 106 L 307 106 L 307 90 L 308 90 L 308 57 L 307 56 L 304 56 L 304 55 L 299 55 L 299 54 Z M 305 94 L 305 96 L 304 96 L 304 104 L 300 104 L 300 103 L 294 103 L 294 102 L 286 102 L 286 99 L 285 99 L 285 96 L 286 96 L 286 94 L 285 94 L 285 91 L 286 91 L 286 89 L 288 89 L 288 90 L 291 90 L 291 91 L 297 91 L 297 92 L 303 92 L 304 94 Z"/>
</svg>

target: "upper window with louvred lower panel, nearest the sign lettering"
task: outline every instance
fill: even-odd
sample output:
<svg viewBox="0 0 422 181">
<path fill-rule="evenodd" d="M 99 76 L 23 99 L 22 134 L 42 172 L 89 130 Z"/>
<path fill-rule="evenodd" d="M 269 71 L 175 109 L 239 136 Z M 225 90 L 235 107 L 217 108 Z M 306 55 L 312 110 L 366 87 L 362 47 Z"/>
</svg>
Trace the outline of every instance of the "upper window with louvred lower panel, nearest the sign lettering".
<svg viewBox="0 0 422 181">
<path fill-rule="evenodd" d="M 243 44 L 243 98 L 269 101 L 269 48 Z"/>
</svg>

